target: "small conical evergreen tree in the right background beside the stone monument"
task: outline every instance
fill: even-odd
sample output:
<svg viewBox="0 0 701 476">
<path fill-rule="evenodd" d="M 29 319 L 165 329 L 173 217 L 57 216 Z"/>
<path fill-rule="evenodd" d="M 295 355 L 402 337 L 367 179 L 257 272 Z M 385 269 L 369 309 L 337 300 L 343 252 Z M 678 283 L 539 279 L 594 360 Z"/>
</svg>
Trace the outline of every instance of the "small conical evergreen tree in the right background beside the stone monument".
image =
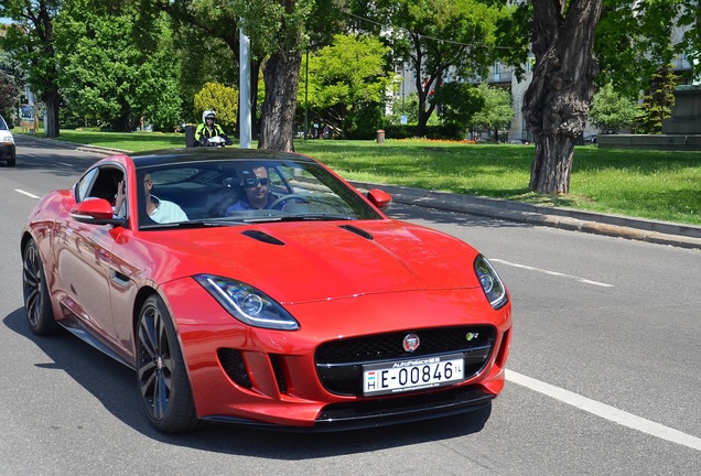
<svg viewBox="0 0 701 476">
<path fill-rule="evenodd" d="M 671 117 L 675 105 L 676 76 L 671 65 L 661 67 L 650 82 L 650 88 L 643 96 L 640 109 L 640 131 L 645 133 L 662 133 L 662 120 Z"/>
</svg>

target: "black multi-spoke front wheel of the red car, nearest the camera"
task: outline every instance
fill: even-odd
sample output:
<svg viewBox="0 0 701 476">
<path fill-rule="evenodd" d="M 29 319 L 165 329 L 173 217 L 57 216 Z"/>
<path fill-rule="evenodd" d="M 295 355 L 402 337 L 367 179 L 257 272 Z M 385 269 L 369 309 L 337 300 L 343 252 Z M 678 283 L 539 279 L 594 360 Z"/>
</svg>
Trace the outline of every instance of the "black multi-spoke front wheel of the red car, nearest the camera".
<svg viewBox="0 0 701 476">
<path fill-rule="evenodd" d="M 139 394 L 149 422 L 163 433 L 198 428 L 175 328 L 163 300 L 155 294 L 139 313 L 137 359 Z"/>
</svg>

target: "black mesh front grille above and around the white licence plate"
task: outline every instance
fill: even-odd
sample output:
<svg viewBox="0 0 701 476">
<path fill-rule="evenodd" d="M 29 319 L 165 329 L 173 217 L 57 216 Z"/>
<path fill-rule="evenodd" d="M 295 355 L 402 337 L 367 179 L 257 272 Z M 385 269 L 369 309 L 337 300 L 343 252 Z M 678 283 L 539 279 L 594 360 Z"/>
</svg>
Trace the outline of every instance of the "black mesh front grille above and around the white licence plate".
<svg viewBox="0 0 701 476">
<path fill-rule="evenodd" d="M 413 353 L 403 349 L 408 334 L 421 339 Z M 465 378 L 477 375 L 488 361 L 496 338 L 492 326 L 407 329 L 324 343 L 314 355 L 319 378 L 332 393 L 363 396 L 363 366 L 443 354 L 465 354 Z"/>
</svg>

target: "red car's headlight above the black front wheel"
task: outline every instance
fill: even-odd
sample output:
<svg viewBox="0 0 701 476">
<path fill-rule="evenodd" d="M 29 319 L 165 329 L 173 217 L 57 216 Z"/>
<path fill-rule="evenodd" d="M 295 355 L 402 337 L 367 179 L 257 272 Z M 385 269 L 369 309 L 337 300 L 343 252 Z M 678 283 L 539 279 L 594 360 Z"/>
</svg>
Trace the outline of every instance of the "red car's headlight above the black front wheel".
<svg viewBox="0 0 701 476">
<path fill-rule="evenodd" d="M 195 280 L 234 317 L 254 327 L 295 331 L 300 324 L 262 291 L 240 281 L 214 274 L 197 274 Z"/>
</svg>

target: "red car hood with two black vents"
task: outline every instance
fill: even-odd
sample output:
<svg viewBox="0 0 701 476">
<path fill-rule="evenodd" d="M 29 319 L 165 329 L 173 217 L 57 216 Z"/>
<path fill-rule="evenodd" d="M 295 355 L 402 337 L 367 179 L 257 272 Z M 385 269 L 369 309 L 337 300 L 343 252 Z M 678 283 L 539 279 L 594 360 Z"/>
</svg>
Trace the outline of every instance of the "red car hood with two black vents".
<svg viewBox="0 0 701 476">
<path fill-rule="evenodd" d="M 162 280 L 217 274 L 281 303 L 479 286 L 473 267 L 477 251 L 401 221 L 276 223 L 153 234 L 171 264 L 171 275 Z M 172 267 L 173 258 L 179 266 Z"/>
</svg>

